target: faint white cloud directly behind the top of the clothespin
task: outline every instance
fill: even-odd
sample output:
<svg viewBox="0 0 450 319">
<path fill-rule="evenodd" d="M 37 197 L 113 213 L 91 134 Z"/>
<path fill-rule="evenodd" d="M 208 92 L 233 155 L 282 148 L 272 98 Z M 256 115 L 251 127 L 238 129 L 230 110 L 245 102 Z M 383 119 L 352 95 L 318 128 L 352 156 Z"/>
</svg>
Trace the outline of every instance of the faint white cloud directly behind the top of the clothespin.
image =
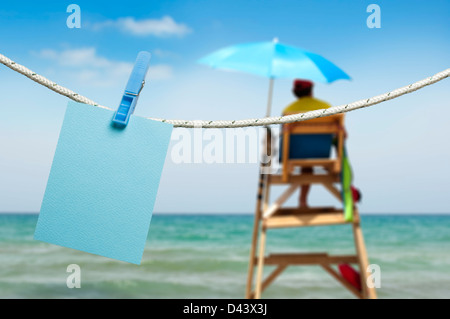
<svg viewBox="0 0 450 319">
<path fill-rule="evenodd" d="M 123 83 L 133 69 L 133 63 L 109 60 L 99 56 L 95 48 L 55 51 L 45 49 L 38 56 L 55 62 L 63 71 L 84 85 L 112 87 Z M 151 65 L 147 80 L 165 80 L 172 77 L 172 67 L 166 64 Z"/>
</svg>

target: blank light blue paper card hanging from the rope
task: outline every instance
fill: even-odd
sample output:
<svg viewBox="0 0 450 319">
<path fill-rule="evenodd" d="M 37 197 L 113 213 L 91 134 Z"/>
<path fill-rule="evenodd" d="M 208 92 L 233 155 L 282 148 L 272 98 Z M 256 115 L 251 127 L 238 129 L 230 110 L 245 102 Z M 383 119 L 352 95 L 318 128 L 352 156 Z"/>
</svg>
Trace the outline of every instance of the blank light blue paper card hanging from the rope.
<svg viewBox="0 0 450 319">
<path fill-rule="evenodd" d="M 140 264 L 172 125 L 69 102 L 34 238 Z"/>
</svg>

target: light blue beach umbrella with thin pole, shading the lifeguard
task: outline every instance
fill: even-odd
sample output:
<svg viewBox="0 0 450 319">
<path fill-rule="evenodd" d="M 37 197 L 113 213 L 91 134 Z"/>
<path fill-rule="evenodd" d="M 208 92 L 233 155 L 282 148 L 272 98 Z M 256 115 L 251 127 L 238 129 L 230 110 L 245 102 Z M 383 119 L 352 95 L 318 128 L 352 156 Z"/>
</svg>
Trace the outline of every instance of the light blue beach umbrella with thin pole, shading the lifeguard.
<svg viewBox="0 0 450 319">
<path fill-rule="evenodd" d="M 270 79 L 266 116 L 270 116 L 273 81 L 275 78 L 301 78 L 313 82 L 331 83 L 350 77 L 324 57 L 274 39 L 229 46 L 200 60 L 212 68 L 235 70 Z"/>
</svg>

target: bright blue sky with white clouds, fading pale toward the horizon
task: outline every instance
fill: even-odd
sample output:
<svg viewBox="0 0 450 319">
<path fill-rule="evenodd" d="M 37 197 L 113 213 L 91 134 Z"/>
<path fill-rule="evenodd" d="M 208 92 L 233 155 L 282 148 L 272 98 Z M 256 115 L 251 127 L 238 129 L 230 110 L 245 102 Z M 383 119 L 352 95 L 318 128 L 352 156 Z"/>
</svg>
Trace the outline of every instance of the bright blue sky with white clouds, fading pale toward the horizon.
<svg viewBox="0 0 450 319">
<path fill-rule="evenodd" d="M 66 8 L 81 8 L 69 29 Z M 369 4 L 381 28 L 369 29 Z M 137 52 L 153 53 L 137 115 L 241 119 L 265 113 L 267 79 L 196 63 L 235 43 L 270 41 L 330 59 L 351 77 L 317 84 L 332 105 L 384 93 L 449 67 L 449 1 L 21 1 L 0 8 L 0 53 L 115 108 Z M 0 67 L 0 211 L 37 212 L 67 98 Z M 360 210 L 450 212 L 449 83 L 347 116 Z M 277 80 L 273 114 L 293 100 Z M 168 159 L 157 212 L 252 212 L 255 164 L 174 164 Z M 275 196 L 277 191 L 273 192 Z M 176 201 L 173 198 L 177 198 Z M 311 204 L 334 203 L 320 187 Z"/>
</svg>

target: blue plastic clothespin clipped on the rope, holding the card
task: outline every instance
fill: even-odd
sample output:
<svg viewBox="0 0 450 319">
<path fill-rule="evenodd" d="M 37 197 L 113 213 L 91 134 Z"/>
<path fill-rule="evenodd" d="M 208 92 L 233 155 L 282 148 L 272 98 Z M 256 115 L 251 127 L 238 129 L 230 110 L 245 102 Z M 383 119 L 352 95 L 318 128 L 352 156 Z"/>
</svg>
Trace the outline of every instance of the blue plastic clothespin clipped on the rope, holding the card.
<svg viewBox="0 0 450 319">
<path fill-rule="evenodd" d="M 118 127 L 125 127 L 130 120 L 136 108 L 136 103 L 145 83 L 145 76 L 147 75 L 148 67 L 150 65 L 151 54 L 142 51 L 139 52 L 136 62 L 128 80 L 125 92 L 120 102 L 119 108 L 113 117 L 113 124 Z"/>
</svg>

